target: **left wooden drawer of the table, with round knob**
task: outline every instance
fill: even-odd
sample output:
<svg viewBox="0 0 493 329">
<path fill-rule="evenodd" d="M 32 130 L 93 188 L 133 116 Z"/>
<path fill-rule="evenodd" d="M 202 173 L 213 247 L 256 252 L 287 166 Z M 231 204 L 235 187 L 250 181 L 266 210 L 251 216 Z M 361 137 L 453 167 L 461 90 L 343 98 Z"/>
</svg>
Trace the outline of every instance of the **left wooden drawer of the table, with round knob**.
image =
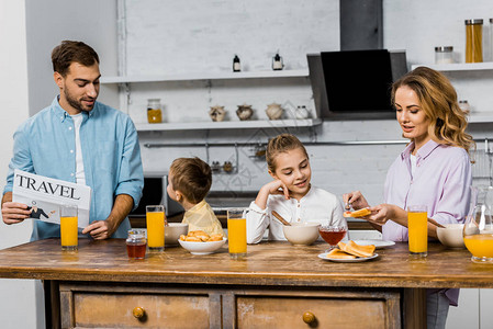
<svg viewBox="0 0 493 329">
<path fill-rule="evenodd" d="M 209 328 L 208 295 L 75 293 L 72 321 L 85 328 Z M 141 309 L 138 309 L 141 308 Z M 139 318 L 137 318 L 142 315 Z"/>
</svg>

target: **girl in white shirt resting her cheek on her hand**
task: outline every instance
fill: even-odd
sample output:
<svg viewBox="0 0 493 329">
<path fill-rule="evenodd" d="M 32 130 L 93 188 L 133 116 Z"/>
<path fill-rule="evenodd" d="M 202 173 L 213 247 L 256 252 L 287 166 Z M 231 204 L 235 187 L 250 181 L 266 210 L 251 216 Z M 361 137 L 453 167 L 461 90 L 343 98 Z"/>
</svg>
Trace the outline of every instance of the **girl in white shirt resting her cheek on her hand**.
<svg viewBox="0 0 493 329">
<path fill-rule="evenodd" d="M 251 202 L 247 214 L 247 242 L 258 243 L 269 228 L 269 240 L 285 240 L 277 212 L 290 223 L 317 222 L 322 225 L 345 225 L 343 207 L 337 197 L 310 184 L 312 170 L 306 149 L 293 135 L 272 138 L 266 151 L 269 174 Z"/>
</svg>

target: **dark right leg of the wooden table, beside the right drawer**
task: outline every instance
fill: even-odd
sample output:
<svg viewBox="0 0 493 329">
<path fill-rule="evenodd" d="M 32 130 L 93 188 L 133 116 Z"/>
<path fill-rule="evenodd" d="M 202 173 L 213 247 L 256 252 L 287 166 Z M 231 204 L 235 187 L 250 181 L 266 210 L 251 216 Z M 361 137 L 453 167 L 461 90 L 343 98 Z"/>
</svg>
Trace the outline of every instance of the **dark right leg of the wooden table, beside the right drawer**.
<svg viewBox="0 0 493 329">
<path fill-rule="evenodd" d="M 426 329 L 426 288 L 404 288 L 404 329 Z"/>
</svg>

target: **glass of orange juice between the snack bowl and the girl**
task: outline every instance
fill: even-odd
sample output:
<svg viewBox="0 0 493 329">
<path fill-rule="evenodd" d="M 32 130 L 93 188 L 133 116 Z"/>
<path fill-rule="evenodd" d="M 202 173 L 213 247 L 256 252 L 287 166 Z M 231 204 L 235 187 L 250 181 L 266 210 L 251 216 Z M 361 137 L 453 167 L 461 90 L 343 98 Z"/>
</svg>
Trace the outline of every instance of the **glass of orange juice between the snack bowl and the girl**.
<svg viewBox="0 0 493 329">
<path fill-rule="evenodd" d="M 247 254 L 246 218 L 243 208 L 227 211 L 227 239 L 232 259 L 244 259 Z"/>
</svg>

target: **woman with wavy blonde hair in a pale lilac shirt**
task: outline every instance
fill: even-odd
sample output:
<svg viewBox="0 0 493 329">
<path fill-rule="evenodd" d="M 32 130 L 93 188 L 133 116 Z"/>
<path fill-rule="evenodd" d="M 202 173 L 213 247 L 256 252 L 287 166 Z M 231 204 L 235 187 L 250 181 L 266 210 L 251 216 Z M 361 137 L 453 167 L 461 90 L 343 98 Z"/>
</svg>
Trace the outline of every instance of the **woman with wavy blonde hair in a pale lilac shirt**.
<svg viewBox="0 0 493 329">
<path fill-rule="evenodd" d="M 344 195 L 355 209 L 369 207 L 367 216 L 384 240 L 407 241 L 408 205 L 426 205 L 428 217 L 440 224 L 463 223 L 472 182 L 466 134 L 467 121 L 457 93 L 440 72 L 419 67 L 392 86 L 392 103 L 403 137 L 411 143 L 389 169 L 384 203 L 370 207 L 363 195 Z M 428 236 L 437 238 L 428 224 Z M 428 328 L 445 328 L 449 304 L 457 306 L 458 290 L 428 292 Z"/>
</svg>

